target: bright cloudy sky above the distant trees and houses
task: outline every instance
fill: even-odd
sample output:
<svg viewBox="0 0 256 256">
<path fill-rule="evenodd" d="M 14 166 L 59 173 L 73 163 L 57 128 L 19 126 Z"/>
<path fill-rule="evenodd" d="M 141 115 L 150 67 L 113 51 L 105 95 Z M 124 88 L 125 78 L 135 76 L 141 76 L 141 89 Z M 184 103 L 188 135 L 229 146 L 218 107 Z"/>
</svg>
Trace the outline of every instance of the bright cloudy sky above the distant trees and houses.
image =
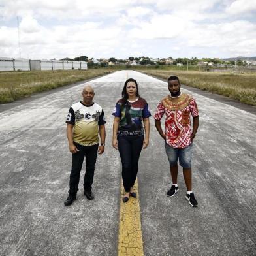
<svg viewBox="0 0 256 256">
<path fill-rule="evenodd" d="M 254 57 L 256 0 L 0 0 L 0 57 L 78 56 Z"/>
</svg>

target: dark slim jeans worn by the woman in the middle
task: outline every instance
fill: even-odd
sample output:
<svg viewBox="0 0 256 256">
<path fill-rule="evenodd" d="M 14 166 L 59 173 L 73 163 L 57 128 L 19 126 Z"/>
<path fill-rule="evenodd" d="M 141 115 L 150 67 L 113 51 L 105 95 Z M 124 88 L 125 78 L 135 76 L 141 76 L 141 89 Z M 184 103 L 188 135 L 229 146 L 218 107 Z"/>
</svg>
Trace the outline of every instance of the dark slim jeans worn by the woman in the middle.
<svg viewBox="0 0 256 256">
<path fill-rule="evenodd" d="M 143 146 L 144 136 L 121 136 L 118 135 L 118 150 L 122 164 L 122 178 L 125 192 L 135 184 L 138 173 L 138 159 Z"/>
</svg>

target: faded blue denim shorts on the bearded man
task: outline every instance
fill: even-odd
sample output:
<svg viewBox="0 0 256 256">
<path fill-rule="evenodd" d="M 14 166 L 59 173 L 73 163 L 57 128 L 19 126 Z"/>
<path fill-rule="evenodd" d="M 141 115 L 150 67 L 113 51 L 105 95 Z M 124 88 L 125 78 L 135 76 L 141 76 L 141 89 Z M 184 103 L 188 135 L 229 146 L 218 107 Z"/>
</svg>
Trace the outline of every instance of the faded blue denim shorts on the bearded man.
<svg viewBox="0 0 256 256">
<path fill-rule="evenodd" d="M 183 168 L 191 168 L 192 151 L 192 143 L 185 148 L 172 148 L 165 142 L 165 152 L 167 153 L 170 167 L 176 165 L 179 159 Z"/>
</svg>

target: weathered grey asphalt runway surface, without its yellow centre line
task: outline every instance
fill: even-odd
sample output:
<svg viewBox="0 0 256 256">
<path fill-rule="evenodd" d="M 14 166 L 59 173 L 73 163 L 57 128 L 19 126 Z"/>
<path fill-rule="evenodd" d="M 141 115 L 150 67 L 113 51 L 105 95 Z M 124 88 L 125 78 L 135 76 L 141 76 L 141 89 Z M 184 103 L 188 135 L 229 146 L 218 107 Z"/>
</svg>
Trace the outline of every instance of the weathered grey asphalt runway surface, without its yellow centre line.
<svg viewBox="0 0 256 256">
<path fill-rule="evenodd" d="M 106 150 L 97 158 L 95 200 L 84 197 L 80 180 L 78 200 L 69 207 L 63 205 L 71 170 L 65 118 L 84 83 L 2 111 L 0 106 L 0 255 L 118 255 L 121 165 L 111 145 L 112 110 L 127 78 L 138 81 L 152 116 L 168 94 L 167 82 L 135 71 L 86 83 L 106 116 Z M 138 172 L 144 255 L 255 255 L 256 116 L 182 91 L 199 107 L 192 167 L 199 207 L 185 199 L 181 168 L 180 191 L 166 196 L 167 156 L 150 118 L 150 146 L 142 151 Z"/>
</svg>

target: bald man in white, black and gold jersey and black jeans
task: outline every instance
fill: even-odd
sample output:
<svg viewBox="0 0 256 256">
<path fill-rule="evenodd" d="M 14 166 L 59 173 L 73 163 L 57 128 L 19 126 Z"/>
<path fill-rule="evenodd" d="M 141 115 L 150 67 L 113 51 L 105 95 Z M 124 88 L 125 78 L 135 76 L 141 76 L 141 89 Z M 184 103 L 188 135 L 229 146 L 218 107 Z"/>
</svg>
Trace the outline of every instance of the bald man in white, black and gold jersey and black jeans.
<svg viewBox="0 0 256 256">
<path fill-rule="evenodd" d="M 102 154 L 105 146 L 105 119 L 103 108 L 93 102 L 95 93 L 91 86 L 84 87 L 83 100 L 72 104 L 67 114 L 67 139 L 69 150 L 72 153 L 72 168 L 69 180 L 69 197 L 65 200 L 65 206 L 69 206 L 76 200 L 80 172 L 84 157 L 86 157 L 86 174 L 84 175 L 84 195 L 92 200 L 91 185 L 97 153 Z M 99 137 L 101 144 L 99 145 Z"/>
</svg>

